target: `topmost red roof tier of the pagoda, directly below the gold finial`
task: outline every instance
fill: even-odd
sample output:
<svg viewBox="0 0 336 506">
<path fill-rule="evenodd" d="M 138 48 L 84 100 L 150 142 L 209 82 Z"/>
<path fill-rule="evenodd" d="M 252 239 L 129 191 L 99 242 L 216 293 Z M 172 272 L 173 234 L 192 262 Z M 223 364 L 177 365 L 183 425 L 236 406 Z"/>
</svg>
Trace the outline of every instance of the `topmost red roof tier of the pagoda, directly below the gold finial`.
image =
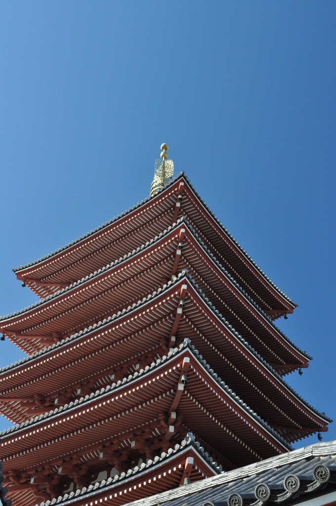
<svg viewBox="0 0 336 506">
<path fill-rule="evenodd" d="M 177 198 L 182 196 L 182 201 Z M 155 196 L 35 262 L 14 269 L 18 279 L 46 297 L 105 267 L 187 216 L 206 246 L 251 298 L 272 318 L 292 313 L 296 304 L 251 260 L 181 173 Z"/>
</svg>

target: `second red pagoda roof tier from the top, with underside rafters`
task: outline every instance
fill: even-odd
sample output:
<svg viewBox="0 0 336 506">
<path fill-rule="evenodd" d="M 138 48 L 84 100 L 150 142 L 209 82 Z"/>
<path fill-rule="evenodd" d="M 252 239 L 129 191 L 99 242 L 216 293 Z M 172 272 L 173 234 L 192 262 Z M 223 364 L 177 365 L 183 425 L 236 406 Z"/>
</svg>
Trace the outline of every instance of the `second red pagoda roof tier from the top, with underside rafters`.
<svg viewBox="0 0 336 506">
<path fill-rule="evenodd" d="M 179 248 L 181 238 L 183 247 Z M 192 274 L 209 301 L 278 372 L 288 373 L 301 367 L 303 358 L 304 363 L 311 359 L 224 270 L 184 218 L 106 268 L 44 301 L 0 318 L 0 329 L 31 353 L 136 303 L 177 269 Z M 22 344 L 27 340 L 28 346 Z M 288 355 L 288 343 L 290 350 L 299 352 L 299 360 Z M 276 356 L 265 355 L 265 346 Z M 289 365 L 283 367 L 284 363 Z"/>
</svg>

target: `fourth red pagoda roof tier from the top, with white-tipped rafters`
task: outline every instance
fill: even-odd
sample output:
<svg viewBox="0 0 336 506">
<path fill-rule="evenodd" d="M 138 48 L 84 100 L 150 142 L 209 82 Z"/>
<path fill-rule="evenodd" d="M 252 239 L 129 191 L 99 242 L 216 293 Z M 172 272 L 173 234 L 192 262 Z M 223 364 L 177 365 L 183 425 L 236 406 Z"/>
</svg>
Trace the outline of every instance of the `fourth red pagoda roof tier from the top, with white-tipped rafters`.
<svg viewBox="0 0 336 506">
<path fill-rule="evenodd" d="M 10 430 L 7 434 L 3 433 L 0 444 L 5 467 L 8 461 L 11 461 L 11 466 L 13 466 L 13 462 L 15 466 L 23 465 L 24 462 L 27 467 L 27 465 L 34 465 L 34 462 L 41 461 L 41 458 L 51 458 L 52 446 L 55 447 L 55 444 L 57 448 L 62 447 L 63 444 L 68 451 L 71 451 L 71 448 L 75 450 L 79 441 L 81 441 L 81 445 L 88 441 L 87 431 L 79 430 L 82 427 L 88 427 L 88 424 L 90 425 L 91 438 L 97 437 L 97 431 L 108 430 L 110 434 L 109 426 L 107 427 L 105 424 L 104 427 L 102 423 L 98 428 L 95 424 L 101 423 L 106 416 L 111 417 L 112 415 L 112 418 L 109 419 L 116 427 L 116 424 L 119 424 L 119 417 L 117 417 L 117 421 L 113 421 L 113 419 L 115 420 L 113 413 L 122 412 L 122 417 L 125 420 L 128 419 L 129 423 L 132 421 L 132 424 L 135 424 L 136 418 L 143 416 L 139 415 L 141 410 L 146 411 L 146 419 L 149 419 L 150 412 L 156 412 L 158 409 L 161 412 L 164 406 L 166 408 L 170 406 L 169 409 L 172 409 L 175 401 L 173 404 L 171 403 L 171 395 L 173 395 L 173 399 L 176 399 L 176 392 L 181 390 L 182 397 L 177 404 L 179 411 L 183 412 L 185 418 L 187 415 L 192 416 L 192 425 L 198 424 L 199 427 L 202 427 L 208 438 L 213 438 L 214 433 L 222 434 L 223 442 L 218 443 L 217 441 L 216 444 L 225 447 L 225 441 L 231 441 L 231 444 L 236 448 L 235 451 L 233 451 L 233 447 L 231 448 L 231 455 L 236 455 L 239 449 L 240 453 L 243 452 L 245 456 L 249 455 L 250 461 L 253 461 L 290 449 L 290 446 L 242 400 L 236 397 L 204 362 L 198 357 L 197 352 L 193 351 L 185 342 L 179 349 L 169 353 L 156 364 L 146 367 L 147 370 L 142 370 L 139 374 L 136 373 L 133 377 L 119 382 L 120 385 L 113 384 L 111 388 L 102 389 L 101 392 L 88 396 L 88 399 L 70 403 L 64 409 L 56 409 L 37 417 L 37 420 L 32 419 L 27 424 L 22 424 L 22 427 Z M 178 387 L 178 384 L 183 387 L 183 384 L 179 383 L 179 378 L 185 364 L 189 365 L 190 385 L 186 387 L 184 392 L 184 388 Z M 138 393 L 134 393 L 138 392 L 137 387 L 141 388 L 143 396 L 146 394 L 145 399 L 148 398 L 146 405 L 139 405 Z M 164 394 L 171 392 L 172 388 L 172 394 Z M 211 399 L 209 399 L 209 394 Z M 190 396 L 198 399 L 196 404 Z M 154 403 L 149 400 L 153 397 L 156 399 Z M 156 404 L 160 406 L 156 407 Z M 133 410 L 132 406 L 134 406 Z M 190 409 L 191 407 L 193 409 Z M 191 411 L 195 411 L 195 413 L 197 411 L 198 417 L 195 418 L 195 413 L 193 414 Z M 215 417 L 220 417 L 218 421 L 215 421 L 217 418 L 208 416 L 209 411 L 212 411 Z M 231 414 L 229 415 L 229 413 Z M 239 414 L 238 418 L 237 413 Z M 221 425 L 223 424 L 221 418 L 223 421 L 225 420 L 226 427 Z M 197 424 L 196 420 L 198 420 Z M 208 432 L 204 424 L 208 426 L 208 430 L 212 427 L 213 431 Z M 228 428 L 230 426 L 233 432 Z M 94 430 L 94 428 L 96 429 Z M 59 439 L 60 434 L 68 434 L 69 437 L 62 443 L 62 438 Z M 238 435 L 238 440 L 236 435 Z M 242 435 L 243 441 L 239 439 Z M 197 434 L 197 436 L 202 438 L 201 434 Z M 57 441 L 54 445 L 47 443 L 53 438 L 56 438 Z M 211 441 L 208 441 L 208 444 L 212 444 Z M 27 446 L 31 450 L 27 450 Z M 22 451 L 24 450 L 26 451 L 23 455 Z"/>
</svg>

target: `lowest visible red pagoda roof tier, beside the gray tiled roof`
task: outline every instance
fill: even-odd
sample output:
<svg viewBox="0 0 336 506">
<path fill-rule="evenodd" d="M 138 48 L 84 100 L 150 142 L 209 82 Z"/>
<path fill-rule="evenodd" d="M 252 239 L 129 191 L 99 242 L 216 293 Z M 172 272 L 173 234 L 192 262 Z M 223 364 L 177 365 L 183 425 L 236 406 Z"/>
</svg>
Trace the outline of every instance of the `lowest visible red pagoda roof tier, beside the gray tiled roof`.
<svg viewBox="0 0 336 506">
<path fill-rule="evenodd" d="M 63 470 L 62 470 L 63 471 Z M 195 441 L 192 433 L 182 440 L 181 444 L 169 448 L 153 459 L 147 459 L 139 466 L 135 466 L 120 475 L 108 477 L 105 480 L 79 487 L 77 490 L 62 494 L 58 501 L 72 500 L 73 504 L 80 504 L 83 497 L 95 493 L 95 499 L 100 501 L 108 492 L 107 500 L 113 506 L 123 504 L 131 500 L 137 500 L 162 491 L 183 485 L 188 476 L 191 483 L 209 477 L 218 476 L 221 468 L 213 462 L 211 456 L 204 450 L 201 443 Z M 9 486 L 9 495 L 13 496 L 17 506 L 31 506 L 36 502 L 36 496 L 48 496 L 44 484 L 39 484 L 40 490 L 36 489 L 34 481 L 29 488 L 20 490 L 20 485 L 15 483 Z M 35 493 L 33 493 L 35 492 Z M 27 495 L 30 498 L 27 499 Z M 36 495 L 35 495 L 36 494 Z M 45 499 L 46 500 L 46 499 Z"/>
</svg>

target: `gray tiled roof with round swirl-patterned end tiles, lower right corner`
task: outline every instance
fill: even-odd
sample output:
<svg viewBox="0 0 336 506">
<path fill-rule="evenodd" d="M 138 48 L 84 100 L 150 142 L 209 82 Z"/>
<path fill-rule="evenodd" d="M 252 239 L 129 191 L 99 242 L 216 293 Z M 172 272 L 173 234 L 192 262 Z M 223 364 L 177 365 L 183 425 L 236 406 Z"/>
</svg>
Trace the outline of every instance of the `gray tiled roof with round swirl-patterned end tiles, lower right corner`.
<svg viewBox="0 0 336 506">
<path fill-rule="evenodd" d="M 220 476 L 130 502 L 128 506 L 240 506 L 241 496 L 245 501 L 247 499 L 247 504 L 262 506 L 267 500 L 258 501 L 255 495 L 257 485 L 264 486 L 261 487 L 264 499 L 270 491 L 272 502 L 278 503 L 290 503 L 291 498 L 297 500 L 302 495 L 304 499 L 309 498 L 309 494 L 326 486 L 336 490 L 336 441 L 293 450 Z M 234 494 L 232 502 L 231 494 Z"/>
</svg>

